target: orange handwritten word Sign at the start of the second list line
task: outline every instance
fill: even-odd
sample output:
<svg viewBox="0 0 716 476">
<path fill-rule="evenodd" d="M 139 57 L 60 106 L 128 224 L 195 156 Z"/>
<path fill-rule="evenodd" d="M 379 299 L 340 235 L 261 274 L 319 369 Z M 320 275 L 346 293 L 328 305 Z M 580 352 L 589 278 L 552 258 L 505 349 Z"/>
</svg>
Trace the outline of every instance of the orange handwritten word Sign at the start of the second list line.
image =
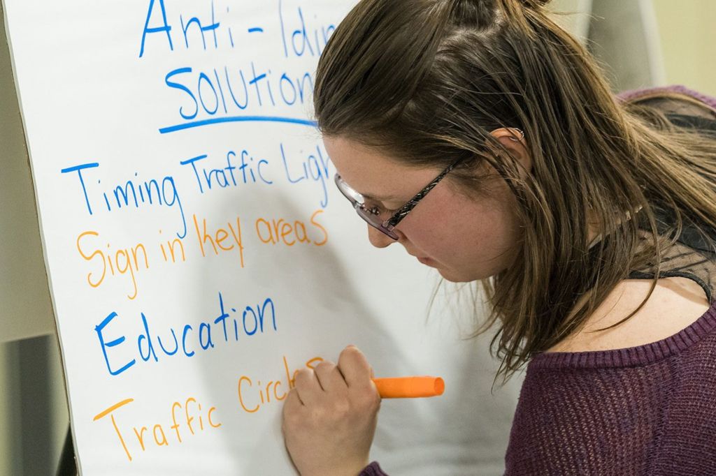
<svg viewBox="0 0 716 476">
<path fill-rule="evenodd" d="M 135 244 L 130 248 L 121 248 L 116 251 L 110 249 L 107 243 L 107 252 L 103 252 L 97 245 L 97 239 L 100 237 L 98 232 L 89 230 L 82 232 L 77 237 L 77 251 L 82 259 L 93 262 L 96 271 L 87 274 L 87 283 L 92 287 L 100 287 L 107 277 L 107 269 L 110 276 L 120 276 L 129 274 L 132 281 L 132 292 L 127 294 L 130 299 L 137 297 L 137 277 L 136 272 L 140 270 L 140 265 L 144 269 L 149 269 L 149 257 L 147 257 L 147 249 L 141 243 Z"/>
</svg>

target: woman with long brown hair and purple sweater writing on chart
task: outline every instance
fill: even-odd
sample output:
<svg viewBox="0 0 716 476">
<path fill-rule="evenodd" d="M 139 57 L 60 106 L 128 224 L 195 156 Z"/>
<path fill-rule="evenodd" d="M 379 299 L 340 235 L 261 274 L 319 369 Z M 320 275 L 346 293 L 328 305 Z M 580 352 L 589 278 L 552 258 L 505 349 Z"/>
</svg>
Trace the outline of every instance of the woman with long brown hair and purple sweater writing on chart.
<svg viewBox="0 0 716 476">
<path fill-rule="evenodd" d="M 615 99 L 543 3 L 360 2 L 316 78 L 337 184 L 374 246 L 485 285 L 500 374 L 528 363 L 508 474 L 707 474 L 716 100 Z M 296 376 L 301 474 L 383 474 L 370 377 L 354 347 Z"/>
</svg>

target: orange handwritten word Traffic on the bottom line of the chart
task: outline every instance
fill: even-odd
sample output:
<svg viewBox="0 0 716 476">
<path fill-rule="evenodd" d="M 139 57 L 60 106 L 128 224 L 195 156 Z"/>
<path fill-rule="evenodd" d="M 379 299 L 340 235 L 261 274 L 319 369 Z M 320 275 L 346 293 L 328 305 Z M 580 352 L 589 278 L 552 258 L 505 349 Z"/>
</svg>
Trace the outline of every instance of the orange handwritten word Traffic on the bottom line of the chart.
<svg viewBox="0 0 716 476">
<path fill-rule="evenodd" d="M 215 415 L 216 407 L 210 407 L 208 411 L 202 410 L 201 404 L 196 401 L 195 398 L 189 397 L 183 403 L 173 402 L 170 410 L 167 412 L 167 421 L 171 418 L 171 425 L 156 423 L 153 425 L 151 430 L 145 426 L 132 427 L 130 432 L 128 425 L 117 425 L 117 419 L 115 415 L 124 414 L 123 420 L 127 421 L 129 418 L 126 415 L 127 405 L 134 402 L 133 398 L 127 398 L 121 402 L 115 403 L 111 407 L 102 410 L 102 412 L 95 415 L 92 421 L 99 421 L 105 418 L 107 415 L 110 416 L 112 421 L 112 427 L 117 434 L 117 439 L 122 445 L 122 449 L 127 455 L 127 459 L 132 461 L 132 452 L 130 448 L 136 452 L 137 445 L 143 451 L 147 450 L 147 445 L 151 446 L 153 442 L 155 446 L 169 446 L 170 440 L 177 444 L 183 443 L 182 435 L 200 435 L 204 430 L 216 429 L 221 427 L 221 422 L 218 422 L 218 417 Z M 165 427 L 168 428 L 165 431 Z M 167 437 L 167 432 L 169 437 Z M 148 435 L 147 435 L 148 433 Z M 132 437 L 132 435 L 134 437 Z M 134 443 L 134 445 L 132 445 Z"/>
</svg>

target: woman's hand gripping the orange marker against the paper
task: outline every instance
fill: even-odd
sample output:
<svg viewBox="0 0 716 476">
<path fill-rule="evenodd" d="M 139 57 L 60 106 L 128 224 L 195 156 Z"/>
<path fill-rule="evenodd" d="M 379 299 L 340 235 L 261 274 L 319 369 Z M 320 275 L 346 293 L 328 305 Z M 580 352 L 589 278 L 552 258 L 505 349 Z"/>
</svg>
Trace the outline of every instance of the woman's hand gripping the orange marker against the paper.
<svg viewBox="0 0 716 476">
<path fill-rule="evenodd" d="M 380 396 L 357 347 L 302 369 L 284 403 L 284 439 L 302 476 L 356 476 L 368 465 Z"/>
</svg>

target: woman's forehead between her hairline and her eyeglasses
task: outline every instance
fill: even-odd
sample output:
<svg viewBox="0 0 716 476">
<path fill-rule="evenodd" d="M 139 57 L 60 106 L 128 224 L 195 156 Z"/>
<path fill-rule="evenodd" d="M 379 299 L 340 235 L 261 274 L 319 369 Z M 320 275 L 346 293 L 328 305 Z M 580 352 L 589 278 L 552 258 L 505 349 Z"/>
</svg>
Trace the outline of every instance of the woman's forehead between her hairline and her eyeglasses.
<svg viewBox="0 0 716 476">
<path fill-rule="evenodd" d="M 411 167 L 351 139 L 324 137 L 323 142 L 338 174 L 352 189 L 370 197 L 413 194 L 435 175 L 435 169 Z"/>
</svg>

